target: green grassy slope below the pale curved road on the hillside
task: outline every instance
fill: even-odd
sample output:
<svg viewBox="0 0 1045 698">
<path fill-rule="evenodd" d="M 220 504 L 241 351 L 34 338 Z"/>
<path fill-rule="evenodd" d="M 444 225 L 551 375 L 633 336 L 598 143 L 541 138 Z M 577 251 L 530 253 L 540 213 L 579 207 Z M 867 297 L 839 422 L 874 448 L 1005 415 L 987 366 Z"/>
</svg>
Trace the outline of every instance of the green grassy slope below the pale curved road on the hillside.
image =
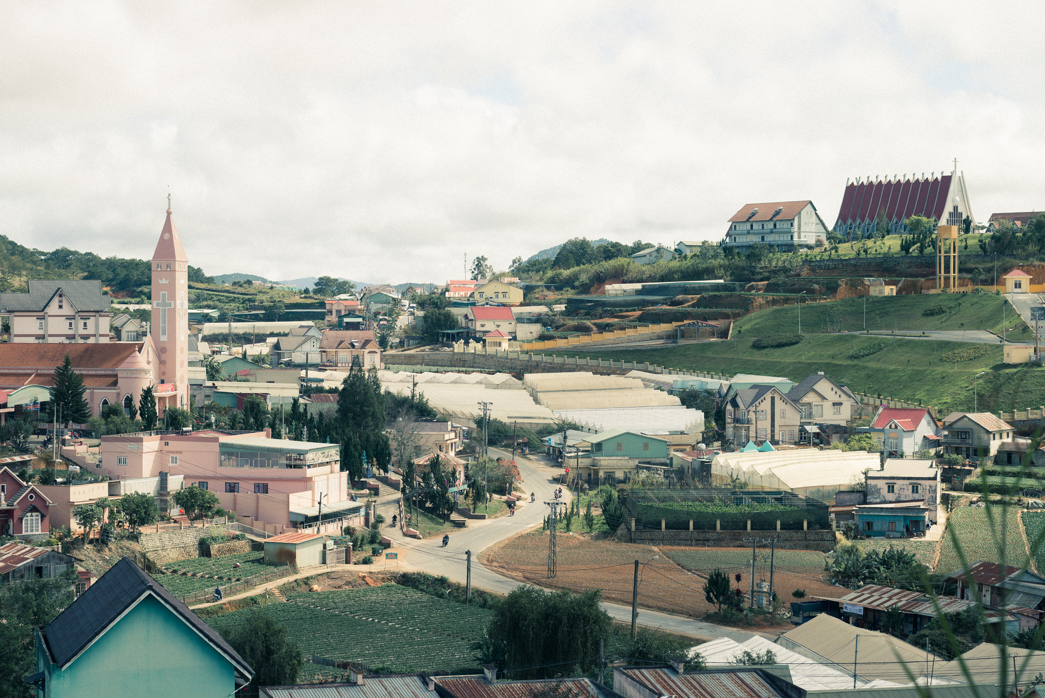
<svg viewBox="0 0 1045 698">
<path fill-rule="evenodd" d="M 776 312 L 776 311 L 773 311 Z M 803 309 L 803 329 L 806 311 Z M 669 348 L 616 352 L 591 350 L 564 352 L 558 356 L 581 356 L 613 361 L 655 363 L 673 368 L 727 374 L 784 376 L 793 381 L 822 370 L 857 392 L 933 405 L 945 413 L 952 409 L 998 411 L 1037 407 L 1045 395 L 1045 368 L 1030 364 L 1001 363 L 1001 346 L 988 345 L 989 354 L 961 363 L 940 361 L 954 350 L 975 346 L 963 342 L 892 339 L 866 335 L 806 335 L 795 345 L 757 350 L 748 333 L 736 340 L 682 344 Z M 882 345 L 870 356 L 850 359 L 851 352 Z M 975 399 L 974 399 L 975 392 Z"/>
</svg>

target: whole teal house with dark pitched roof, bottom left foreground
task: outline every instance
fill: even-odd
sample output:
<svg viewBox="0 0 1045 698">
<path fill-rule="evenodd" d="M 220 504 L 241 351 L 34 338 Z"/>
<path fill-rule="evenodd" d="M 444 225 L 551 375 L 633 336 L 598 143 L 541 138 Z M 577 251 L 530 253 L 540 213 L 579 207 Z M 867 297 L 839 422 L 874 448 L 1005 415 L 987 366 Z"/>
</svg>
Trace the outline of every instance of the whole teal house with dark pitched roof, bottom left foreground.
<svg viewBox="0 0 1045 698">
<path fill-rule="evenodd" d="M 37 629 L 37 696 L 228 698 L 253 670 L 210 626 L 123 558 Z"/>
</svg>

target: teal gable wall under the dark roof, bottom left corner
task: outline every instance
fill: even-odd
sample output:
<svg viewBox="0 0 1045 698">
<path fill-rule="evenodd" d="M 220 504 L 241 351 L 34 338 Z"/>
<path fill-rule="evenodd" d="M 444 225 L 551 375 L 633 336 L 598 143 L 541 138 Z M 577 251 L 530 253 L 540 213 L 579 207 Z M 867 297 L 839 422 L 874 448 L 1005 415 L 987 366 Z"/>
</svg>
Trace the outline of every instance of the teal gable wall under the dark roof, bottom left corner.
<svg viewBox="0 0 1045 698">
<path fill-rule="evenodd" d="M 232 663 L 153 596 L 142 600 L 65 671 L 46 660 L 38 643 L 37 671 L 47 674 L 48 698 L 228 698 L 235 689 Z"/>
</svg>

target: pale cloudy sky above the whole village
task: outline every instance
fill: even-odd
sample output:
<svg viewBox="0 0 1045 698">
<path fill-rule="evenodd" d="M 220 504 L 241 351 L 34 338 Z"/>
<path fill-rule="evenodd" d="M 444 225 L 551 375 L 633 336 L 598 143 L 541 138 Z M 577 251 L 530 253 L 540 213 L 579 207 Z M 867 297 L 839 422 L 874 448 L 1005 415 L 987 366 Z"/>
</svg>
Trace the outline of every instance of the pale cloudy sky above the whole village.
<svg viewBox="0 0 1045 698">
<path fill-rule="evenodd" d="M 1040 3 L 0 2 L 0 233 L 207 273 L 497 269 L 966 173 L 1045 207 Z M 1032 32 L 1031 32 L 1032 33 Z"/>
</svg>

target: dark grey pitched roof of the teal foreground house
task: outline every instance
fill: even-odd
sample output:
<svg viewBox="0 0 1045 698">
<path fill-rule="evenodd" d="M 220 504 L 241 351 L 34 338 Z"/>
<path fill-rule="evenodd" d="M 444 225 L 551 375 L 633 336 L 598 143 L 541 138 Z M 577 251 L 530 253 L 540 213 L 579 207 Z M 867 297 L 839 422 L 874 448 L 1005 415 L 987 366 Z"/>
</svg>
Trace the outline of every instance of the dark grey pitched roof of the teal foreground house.
<svg viewBox="0 0 1045 698">
<path fill-rule="evenodd" d="M 180 615 L 215 650 L 226 655 L 248 679 L 254 675 L 254 670 L 216 630 L 204 623 L 188 606 L 178 601 L 127 557 L 113 565 L 41 631 L 51 660 L 59 667 L 66 668 L 144 593 L 152 593 Z"/>
</svg>

